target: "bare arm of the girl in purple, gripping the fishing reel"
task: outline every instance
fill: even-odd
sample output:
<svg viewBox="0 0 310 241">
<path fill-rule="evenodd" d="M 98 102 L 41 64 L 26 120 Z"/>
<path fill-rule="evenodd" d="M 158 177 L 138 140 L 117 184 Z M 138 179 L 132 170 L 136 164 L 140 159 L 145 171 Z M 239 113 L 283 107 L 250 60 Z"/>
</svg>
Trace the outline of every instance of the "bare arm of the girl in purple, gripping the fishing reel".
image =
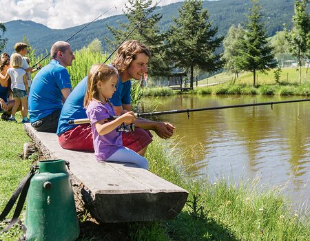
<svg viewBox="0 0 310 241">
<path fill-rule="evenodd" d="M 116 129 L 116 127 L 118 127 L 122 123 L 130 124 L 134 120 L 136 120 L 136 117 L 134 117 L 134 113 L 126 112 L 125 114 L 110 122 L 105 122 L 107 121 L 107 119 L 98 121 L 95 123 L 95 127 L 99 135 L 105 135 L 112 132 L 112 130 Z"/>
</svg>

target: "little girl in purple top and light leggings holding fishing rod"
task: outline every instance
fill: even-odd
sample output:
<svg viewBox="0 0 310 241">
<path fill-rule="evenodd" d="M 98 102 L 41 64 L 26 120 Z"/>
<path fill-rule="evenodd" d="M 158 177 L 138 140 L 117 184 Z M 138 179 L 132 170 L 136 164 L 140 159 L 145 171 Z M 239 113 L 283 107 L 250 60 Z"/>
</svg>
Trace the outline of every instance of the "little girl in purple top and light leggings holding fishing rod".
<svg viewBox="0 0 310 241">
<path fill-rule="evenodd" d="M 92 65 L 88 74 L 84 106 L 92 125 L 95 156 L 99 161 L 134 163 L 148 169 L 147 160 L 124 147 L 121 132 L 116 132 L 116 127 L 122 123 L 130 124 L 136 120 L 134 113 L 125 112 L 113 121 L 108 121 L 108 118 L 116 115 L 109 99 L 116 90 L 118 78 L 117 70 L 104 64 Z"/>
</svg>

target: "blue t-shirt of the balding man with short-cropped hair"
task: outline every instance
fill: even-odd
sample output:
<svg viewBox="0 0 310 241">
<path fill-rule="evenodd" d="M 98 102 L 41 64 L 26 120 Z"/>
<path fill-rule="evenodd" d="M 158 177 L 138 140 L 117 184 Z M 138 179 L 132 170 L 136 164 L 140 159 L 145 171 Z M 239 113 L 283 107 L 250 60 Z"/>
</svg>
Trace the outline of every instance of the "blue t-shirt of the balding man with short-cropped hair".
<svg viewBox="0 0 310 241">
<path fill-rule="evenodd" d="M 72 88 L 68 70 L 52 59 L 32 81 L 28 98 L 31 123 L 63 107 L 61 90 L 64 88 Z"/>
</svg>

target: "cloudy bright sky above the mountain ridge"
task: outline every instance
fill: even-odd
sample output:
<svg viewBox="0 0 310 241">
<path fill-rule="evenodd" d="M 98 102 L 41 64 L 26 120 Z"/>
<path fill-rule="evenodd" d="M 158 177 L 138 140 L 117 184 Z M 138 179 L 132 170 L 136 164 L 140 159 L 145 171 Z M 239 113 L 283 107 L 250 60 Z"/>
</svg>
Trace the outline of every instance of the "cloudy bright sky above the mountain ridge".
<svg viewBox="0 0 310 241">
<path fill-rule="evenodd" d="M 165 6 L 182 0 L 162 0 Z M 156 4 L 155 0 L 153 1 Z M 48 28 L 64 29 L 89 23 L 103 14 L 105 19 L 123 14 L 127 0 L 0 0 L 0 22 L 30 20 Z M 116 7 L 116 8 L 115 8 Z"/>
</svg>

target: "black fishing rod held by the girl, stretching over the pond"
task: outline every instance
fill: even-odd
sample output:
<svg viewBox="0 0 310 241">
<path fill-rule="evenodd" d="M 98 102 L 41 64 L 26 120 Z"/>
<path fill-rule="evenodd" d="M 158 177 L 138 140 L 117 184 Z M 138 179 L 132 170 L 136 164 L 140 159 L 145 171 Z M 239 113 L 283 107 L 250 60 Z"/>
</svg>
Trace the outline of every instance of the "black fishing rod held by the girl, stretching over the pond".
<svg viewBox="0 0 310 241">
<path fill-rule="evenodd" d="M 213 110 L 213 109 L 231 109 L 231 108 L 240 108 L 240 107 L 250 107 L 250 106 L 258 106 L 258 105 L 271 105 L 271 109 L 273 109 L 273 105 L 276 104 L 284 104 L 284 103 L 296 103 L 296 102 L 305 102 L 310 101 L 309 98 L 302 100 L 293 100 L 293 101 L 275 101 L 275 102 L 262 102 L 262 103 L 249 103 L 242 105 L 222 105 L 222 106 L 214 106 L 214 107 L 205 107 L 205 108 L 197 108 L 197 109 L 174 109 L 167 110 L 163 112 L 147 112 L 147 113 L 134 113 L 136 118 L 138 117 L 149 117 L 149 116 L 161 116 L 166 114 L 178 114 L 178 113 L 187 113 L 187 117 L 189 118 L 189 112 L 201 112 L 205 110 Z M 108 119 L 108 121 L 118 118 L 118 116 L 112 116 L 112 118 Z M 90 123 L 90 119 L 82 118 L 76 120 L 68 121 L 70 125 L 80 125 Z"/>
</svg>

